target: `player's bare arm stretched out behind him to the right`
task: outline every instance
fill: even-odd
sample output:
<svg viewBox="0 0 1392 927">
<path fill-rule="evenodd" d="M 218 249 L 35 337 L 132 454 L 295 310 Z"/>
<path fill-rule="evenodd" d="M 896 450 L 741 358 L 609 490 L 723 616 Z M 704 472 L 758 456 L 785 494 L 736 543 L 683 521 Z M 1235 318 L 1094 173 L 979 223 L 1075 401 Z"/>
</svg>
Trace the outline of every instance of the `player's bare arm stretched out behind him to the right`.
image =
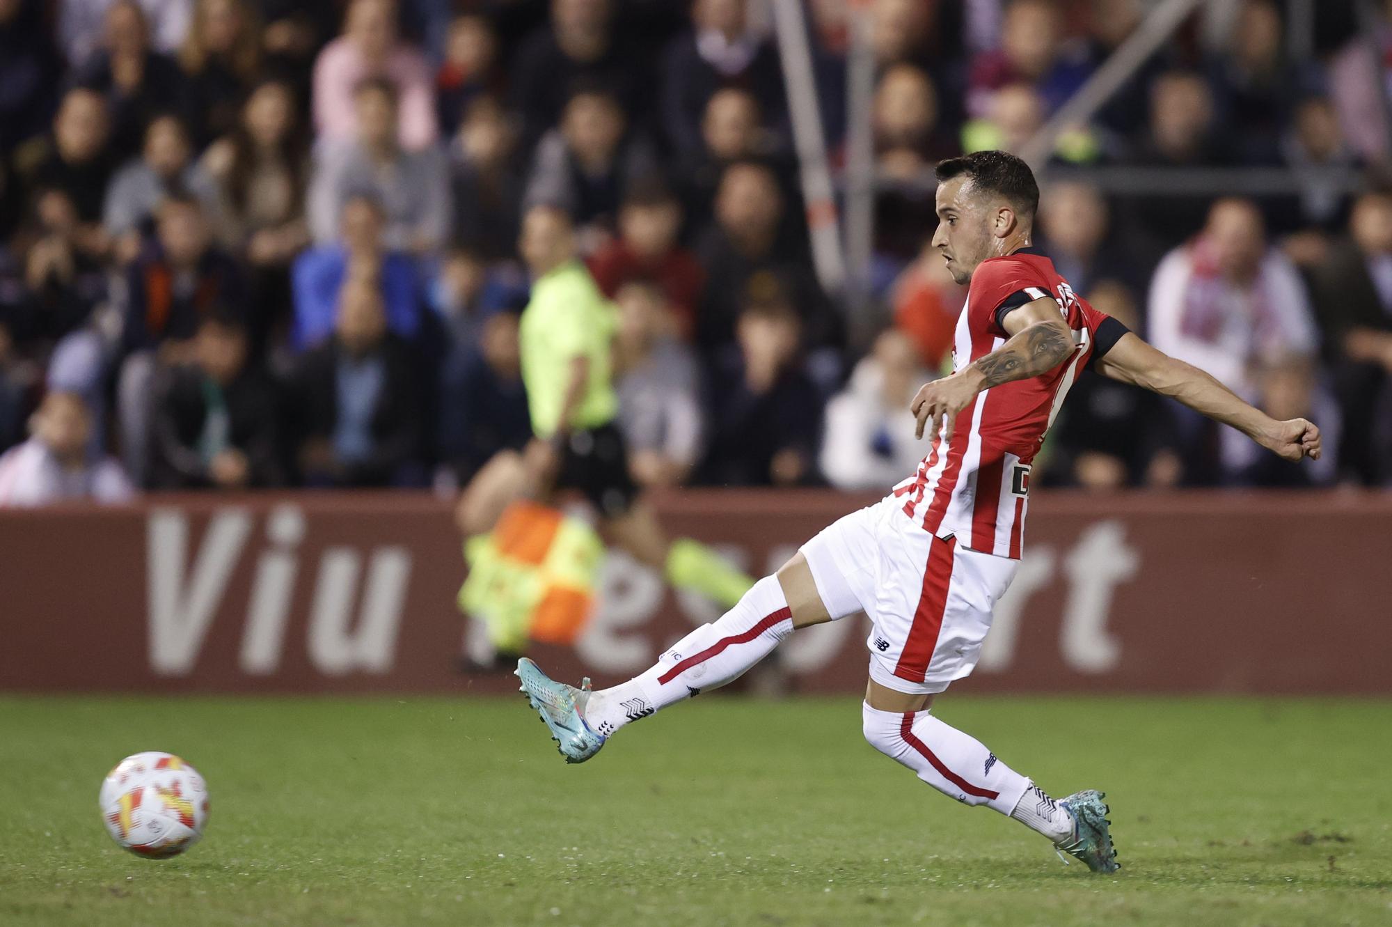
<svg viewBox="0 0 1392 927">
<path fill-rule="evenodd" d="M 1199 367 L 1153 348 L 1130 331 L 1111 351 L 1097 358 L 1093 369 L 1114 380 L 1178 399 L 1210 419 L 1231 425 L 1288 461 L 1303 457 L 1320 459 L 1320 429 L 1313 422 L 1278 422 Z"/>
</svg>

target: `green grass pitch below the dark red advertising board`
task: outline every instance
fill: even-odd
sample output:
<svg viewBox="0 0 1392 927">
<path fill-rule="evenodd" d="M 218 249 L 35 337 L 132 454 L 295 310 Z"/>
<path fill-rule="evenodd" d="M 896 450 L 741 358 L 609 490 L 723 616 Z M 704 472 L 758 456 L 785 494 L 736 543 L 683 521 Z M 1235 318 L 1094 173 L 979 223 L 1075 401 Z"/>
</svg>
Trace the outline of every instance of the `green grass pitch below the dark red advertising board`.
<svg viewBox="0 0 1392 927">
<path fill-rule="evenodd" d="M 1389 924 L 1392 703 L 945 697 L 1118 877 L 916 781 L 855 699 L 704 697 L 565 766 L 516 699 L 0 699 L 0 924 Z M 207 778 L 187 856 L 107 838 L 102 777 Z"/>
</svg>

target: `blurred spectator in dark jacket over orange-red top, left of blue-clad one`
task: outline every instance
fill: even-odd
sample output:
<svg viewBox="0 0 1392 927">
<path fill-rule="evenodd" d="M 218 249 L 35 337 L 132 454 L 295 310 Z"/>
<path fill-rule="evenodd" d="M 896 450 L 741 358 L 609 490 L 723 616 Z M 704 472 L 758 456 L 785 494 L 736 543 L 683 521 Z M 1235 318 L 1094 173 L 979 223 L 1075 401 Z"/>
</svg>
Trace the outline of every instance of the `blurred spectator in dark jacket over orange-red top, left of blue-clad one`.
<svg viewBox="0 0 1392 927">
<path fill-rule="evenodd" d="M 213 248 L 196 199 L 171 195 L 157 213 L 155 246 L 127 271 L 127 306 L 117 409 L 131 477 L 148 476 L 152 387 L 161 366 L 193 359 L 193 334 L 213 312 L 248 313 L 241 269 Z"/>
</svg>

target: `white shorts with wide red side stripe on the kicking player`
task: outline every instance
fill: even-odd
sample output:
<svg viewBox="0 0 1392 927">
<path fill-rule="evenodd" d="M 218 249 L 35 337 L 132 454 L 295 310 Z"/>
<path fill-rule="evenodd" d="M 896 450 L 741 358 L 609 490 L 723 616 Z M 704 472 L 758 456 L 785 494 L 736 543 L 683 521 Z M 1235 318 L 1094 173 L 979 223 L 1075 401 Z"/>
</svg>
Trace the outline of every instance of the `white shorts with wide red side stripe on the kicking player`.
<svg viewBox="0 0 1392 927">
<path fill-rule="evenodd" d="M 892 496 L 832 522 L 802 554 L 834 619 L 864 611 L 874 622 L 870 678 L 912 695 L 942 692 L 976 668 L 1019 565 L 934 537 Z"/>
</svg>

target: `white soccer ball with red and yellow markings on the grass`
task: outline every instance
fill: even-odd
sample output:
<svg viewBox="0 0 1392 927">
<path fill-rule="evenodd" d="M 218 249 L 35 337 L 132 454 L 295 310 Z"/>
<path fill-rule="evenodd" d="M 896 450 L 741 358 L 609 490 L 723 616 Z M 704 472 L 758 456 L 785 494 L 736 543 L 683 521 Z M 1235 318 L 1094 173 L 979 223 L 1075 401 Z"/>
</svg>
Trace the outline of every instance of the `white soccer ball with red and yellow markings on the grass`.
<svg viewBox="0 0 1392 927">
<path fill-rule="evenodd" d="M 102 821 L 111 839 L 141 856 L 178 856 L 207 827 L 207 785 L 173 753 L 128 756 L 102 782 Z"/>
</svg>

